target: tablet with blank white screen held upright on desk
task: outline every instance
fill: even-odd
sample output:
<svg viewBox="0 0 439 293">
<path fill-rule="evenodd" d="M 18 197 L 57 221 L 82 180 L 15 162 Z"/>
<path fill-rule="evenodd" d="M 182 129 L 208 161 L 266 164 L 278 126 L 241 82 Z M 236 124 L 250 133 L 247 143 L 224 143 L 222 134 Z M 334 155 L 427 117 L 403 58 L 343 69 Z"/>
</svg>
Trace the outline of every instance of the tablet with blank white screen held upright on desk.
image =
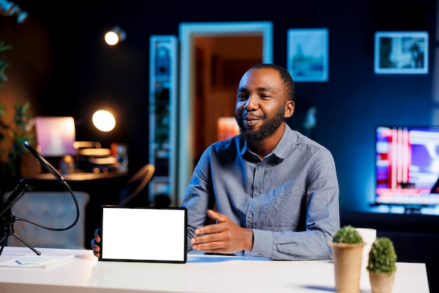
<svg viewBox="0 0 439 293">
<path fill-rule="evenodd" d="M 101 261 L 186 263 L 187 209 L 102 206 Z"/>
</svg>

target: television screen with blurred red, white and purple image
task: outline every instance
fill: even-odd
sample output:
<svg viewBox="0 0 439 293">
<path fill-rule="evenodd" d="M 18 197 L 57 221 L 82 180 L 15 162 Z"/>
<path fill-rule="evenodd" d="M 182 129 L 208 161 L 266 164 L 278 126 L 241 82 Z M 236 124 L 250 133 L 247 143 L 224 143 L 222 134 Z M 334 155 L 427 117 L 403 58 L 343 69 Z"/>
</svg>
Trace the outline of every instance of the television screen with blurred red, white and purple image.
<svg viewBox="0 0 439 293">
<path fill-rule="evenodd" d="M 376 204 L 439 204 L 439 126 L 377 126 Z"/>
</svg>

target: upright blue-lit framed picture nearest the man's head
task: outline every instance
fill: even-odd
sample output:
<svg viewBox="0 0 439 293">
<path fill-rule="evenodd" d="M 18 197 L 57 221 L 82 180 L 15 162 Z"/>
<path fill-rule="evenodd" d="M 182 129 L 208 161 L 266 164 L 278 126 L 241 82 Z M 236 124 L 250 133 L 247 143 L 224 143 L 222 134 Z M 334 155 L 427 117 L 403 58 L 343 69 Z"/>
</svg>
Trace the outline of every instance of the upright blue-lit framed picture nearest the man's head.
<svg viewBox="0 0 439 293">
<path fill-rule="evenodd" d="M 327 82 L 327 29 L 288 30 L 287 69 L 295 82 Z"/>
</svg>

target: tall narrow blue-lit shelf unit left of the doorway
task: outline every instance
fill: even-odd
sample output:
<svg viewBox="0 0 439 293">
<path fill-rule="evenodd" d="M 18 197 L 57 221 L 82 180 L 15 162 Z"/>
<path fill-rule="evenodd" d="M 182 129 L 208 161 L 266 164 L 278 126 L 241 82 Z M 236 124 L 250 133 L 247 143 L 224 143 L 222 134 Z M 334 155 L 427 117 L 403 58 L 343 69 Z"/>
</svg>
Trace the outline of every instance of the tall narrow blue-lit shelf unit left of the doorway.
<svg viewBox="0 0 439 293">
<path fill-rule="evenodd" d="M 175 121 L 177 105 L 177 37 L 152 35 L 149 51 L 149 202 L 168 195 L 175 205 Z"/>
</svg>

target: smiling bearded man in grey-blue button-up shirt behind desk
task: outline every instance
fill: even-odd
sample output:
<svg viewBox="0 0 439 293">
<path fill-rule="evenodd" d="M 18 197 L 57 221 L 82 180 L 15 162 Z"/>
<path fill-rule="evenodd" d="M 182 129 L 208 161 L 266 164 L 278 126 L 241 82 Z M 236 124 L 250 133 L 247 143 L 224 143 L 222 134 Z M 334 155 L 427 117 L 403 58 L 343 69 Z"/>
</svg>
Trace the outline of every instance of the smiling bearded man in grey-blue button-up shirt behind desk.
<svg viewBox="0 0 439 293">
<path fill-rule="evenodd" d="M 241 134 L 203 152 L 182 200 L 188 252 L 331 258 L 328 242 L 339 228 L 335 162 L 285 123 L 294 94 L 283 67 L 259 64 L 245 72 L 235 108 Z"/>
</svg>

